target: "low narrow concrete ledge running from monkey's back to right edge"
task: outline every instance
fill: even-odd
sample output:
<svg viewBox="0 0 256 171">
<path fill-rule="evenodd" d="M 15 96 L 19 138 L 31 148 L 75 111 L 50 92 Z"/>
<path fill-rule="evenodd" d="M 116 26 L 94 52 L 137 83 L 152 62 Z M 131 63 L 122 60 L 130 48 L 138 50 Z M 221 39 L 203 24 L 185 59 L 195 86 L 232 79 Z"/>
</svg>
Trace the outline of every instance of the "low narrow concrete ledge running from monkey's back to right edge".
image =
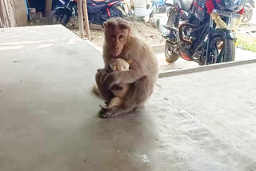
<svg viewBox="0 0 256 171">
<path fill-rule="evenodd" d="M 220 64 L 212 64 L 209 66 L 198 66 L 190 69 L 168 70 L 160 73 L 159 78 L 171 77 L 171 76 L 181 75 L 181 74 L 197 73 L 197 72 L 206 71 L 206 70 L 215 70 L 215 69 L 230 67 L 230 66 L 239 66 L 239 65 L 250 64 L 254 62 L 256 62 L 256 59 L 236 61 L 236 62 L 225 62 Z"/>
</svg>

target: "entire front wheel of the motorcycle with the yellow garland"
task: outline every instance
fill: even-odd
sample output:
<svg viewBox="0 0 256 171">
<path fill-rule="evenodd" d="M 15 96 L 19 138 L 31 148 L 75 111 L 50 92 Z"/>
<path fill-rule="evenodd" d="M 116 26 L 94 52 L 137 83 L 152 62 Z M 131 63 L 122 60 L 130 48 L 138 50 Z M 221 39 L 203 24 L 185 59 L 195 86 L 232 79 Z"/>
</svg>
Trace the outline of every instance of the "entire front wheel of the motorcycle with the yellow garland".
<svg viewBox="0 0 256 171">
<path fill-rule="evenodd" d="M 234 39 L 215 37 L 213 38 L 210 47 L 210 57 L 212 59 L 211 62 L 220 63 L 234 61 Z"/>
</svg>

